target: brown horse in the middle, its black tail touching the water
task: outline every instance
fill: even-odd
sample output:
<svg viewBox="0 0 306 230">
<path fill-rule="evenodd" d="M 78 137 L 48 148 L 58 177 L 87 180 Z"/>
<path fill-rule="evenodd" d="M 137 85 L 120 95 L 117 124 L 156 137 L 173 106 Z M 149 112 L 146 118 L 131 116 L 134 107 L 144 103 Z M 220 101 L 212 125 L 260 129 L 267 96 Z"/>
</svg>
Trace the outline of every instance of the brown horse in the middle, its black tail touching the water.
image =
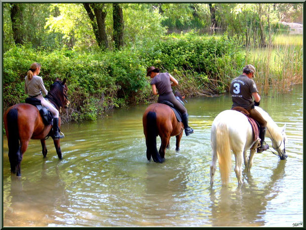
<svg viewBox="0 0 306 230">
<path fill-rule="evenodd" d="M 176 136 L 176 151 L 180 150 L 180 141 L 183 136 L 184 126 L 176 119 L 170 106 L 153 103 L 143 115 L 144 134 L 147 145 L 147 158 L 154 162 L 162 163 L 165 160 L 166 147 L 169 148 L 170 137 Z M 156 148 L 156 137 L 161 139 L 159 151 Z"/>
</svg>

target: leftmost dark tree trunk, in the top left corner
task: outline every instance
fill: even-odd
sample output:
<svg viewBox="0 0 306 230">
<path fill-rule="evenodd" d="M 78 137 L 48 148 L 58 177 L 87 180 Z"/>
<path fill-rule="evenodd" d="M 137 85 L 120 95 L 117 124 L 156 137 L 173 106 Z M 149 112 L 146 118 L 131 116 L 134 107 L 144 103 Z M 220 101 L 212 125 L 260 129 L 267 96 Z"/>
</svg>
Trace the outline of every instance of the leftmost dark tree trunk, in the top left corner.
<svg viewBox="0 0 306 230">
<path fill-rule="evenodd" d="M 22 26 L 23 26 L 23 16 L 22 16 L 22 9 L 19 7 L 17 3 L 10 3 L 10 16 L 12 21 L 12 31 L 13 31 L 13 38 L 16 45 L 23 45 L 23 33 L 22 33 Z"/>
</svg>

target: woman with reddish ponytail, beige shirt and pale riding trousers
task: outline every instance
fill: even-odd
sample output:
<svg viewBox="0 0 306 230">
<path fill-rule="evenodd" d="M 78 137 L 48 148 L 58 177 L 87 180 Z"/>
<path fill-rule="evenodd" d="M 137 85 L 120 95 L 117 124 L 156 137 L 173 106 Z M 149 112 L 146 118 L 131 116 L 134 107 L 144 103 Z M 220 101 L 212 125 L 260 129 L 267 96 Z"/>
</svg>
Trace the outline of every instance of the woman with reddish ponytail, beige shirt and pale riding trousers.
<svg viewBox="0 0 306 230">
<path fill-rule="evenodd" d="M 58 110 L 42 96 L 42 93 L 47 95 L 48 91 L 44 87 L 42 78 L 38 76 L 40 67 L 41 65 L 37 62 L 31 65 L 27 76 L 25 77 L 25 92 L 29 95 L 29 97 L 39 99 L 41 105 L 48 107 L 49 111 L 53 113 L 53 138 L 64 138 L 64 135 L 59 133 L 58 130 Z"/>
</svg>

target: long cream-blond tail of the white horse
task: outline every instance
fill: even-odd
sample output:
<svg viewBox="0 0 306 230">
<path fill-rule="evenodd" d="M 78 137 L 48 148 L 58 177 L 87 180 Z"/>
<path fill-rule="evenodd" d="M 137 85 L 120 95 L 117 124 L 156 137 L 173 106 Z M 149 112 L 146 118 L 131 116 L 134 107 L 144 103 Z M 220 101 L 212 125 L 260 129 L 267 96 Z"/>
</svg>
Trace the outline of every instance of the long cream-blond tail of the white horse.
<svg viewBox="0 0 306 230">
<path fill-rule="evenodd" d="M 227 185 L 229 183 L 229 175 L 231 169 L 231 152 L 229 143 L 229 130 L 225 123 L 219 124 L 217 126 L 216 140 L 221 181 L 223 185 Z"/>
</svg>

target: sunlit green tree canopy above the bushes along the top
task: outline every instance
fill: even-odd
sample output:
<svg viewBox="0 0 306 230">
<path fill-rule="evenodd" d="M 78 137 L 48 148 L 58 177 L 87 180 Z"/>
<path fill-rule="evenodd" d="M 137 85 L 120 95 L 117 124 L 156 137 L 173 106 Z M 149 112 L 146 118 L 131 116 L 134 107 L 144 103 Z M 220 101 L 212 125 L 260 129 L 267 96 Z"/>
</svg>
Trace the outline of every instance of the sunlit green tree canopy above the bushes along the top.
<svg viewBox="0 0 306 230">
<path fill-rule="evenodd" d="M 114 9 L 122 11 L 115 21 Z M 120 46 L 216 30 L 245 46 L 266 46 L 271 31 L 284 27 L 280 21 L 302 22 L 302 9 L 302 3 L 4 3 L 3 46 L 112 50 L 116 30 Z"/>
</svg>

